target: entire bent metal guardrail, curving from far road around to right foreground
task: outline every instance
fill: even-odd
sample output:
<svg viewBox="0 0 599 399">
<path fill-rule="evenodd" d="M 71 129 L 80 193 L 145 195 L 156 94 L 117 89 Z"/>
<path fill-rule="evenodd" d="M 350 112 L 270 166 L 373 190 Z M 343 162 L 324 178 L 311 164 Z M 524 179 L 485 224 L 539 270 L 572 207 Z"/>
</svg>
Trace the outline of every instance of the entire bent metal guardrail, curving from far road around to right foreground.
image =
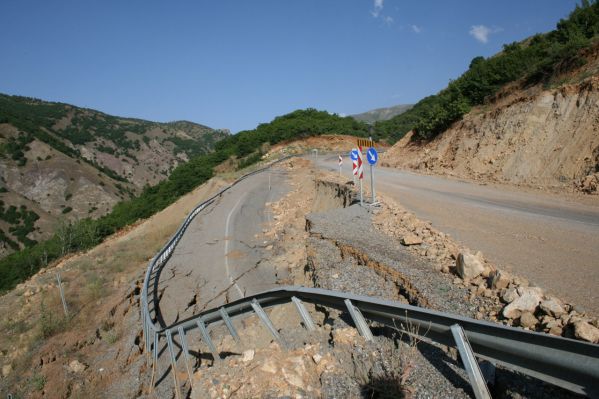
<svg viewBox="0 0 599 399">
<path fill-rule="evenodd" d="M 549 334 L 525 331 L 496 323 L 405 305 L 399 302 L 318 288 L 281 287 L 231 302 L 218 309 L 204 311 L 170 326 L 156 324 L 156 317 L 152 316 L 152 312 L 156 314 L 158 299 L 154 295 L 151 303 L 153 307 L 150 308 L 148 294 L 152 289 L 155 293 L 158 286 L 157 277 L 160 269 L 172 255 L 174 248 L 191 221 L 203 209 L 213 203 L 216 198 L 237 183 L 268 169 L 275 163 L 282 162 L 291 157 L 282 158 L 266 168 L 242 176 L 230 186 L 222 189 L 213 197 L 196 206 L 185 218 L 183 224 L 165 247 L 150 262 L 141 294 L 141 318 L 145 339 L 145 352 L 148 356 L 148 362 L 152 363 L 152 386 L 158 362 L 161 338 L 166 338 L 171 358 L 171 367 L 175 371 L 176 356 L 173 336 L 178 337 L 188 377 L 191 382 L 191 355 L 186 340 L 186 333 L 188 331 L 195 328 L 199 329 L 202 340 L 206 343 L 210 352 L 212 352 L 214 359 L 219 360 L 219 354 L 210 339 L 207 328 L 212 324 L 224 323 L 234 340 L 239 342 L 239 335 L 235 331 L 231 319 L 256 314 L 273 337 L 285 348 L 284 337 L 278 333 L 278 330 L 269 320 L 268 315 L 263 309 L 280 304 L 293 303 L 303 320 L 304 326 L 312 330 L 315 328 L 315 325 L 310 318 L 310 314 L 303 306 L 302 301 L 305 301 L 347 311 L 351 315 L 360 334 L 365 339 L 372 339 L 372 333 L 364 317 L 370 321 L 382 323 L 392 328 L 397 326 L 397 322 L 400 324 L 403 323 L 404 325 L 411 326 L 410 329 L 405 331 L 408 334 L 415 334 L 425 340 L 455 347 L 456 342 L 451 327 L 457 324 L 463 329 L 465 337 L 477 357 L 536 377 L 575 393 L 590 397 L 599 397 L 599 345 Z M 180 397 L 177 373 L 173 372 L 172 374 L 175 379 L 175 393 L 177 397 Z"/>
</svg>

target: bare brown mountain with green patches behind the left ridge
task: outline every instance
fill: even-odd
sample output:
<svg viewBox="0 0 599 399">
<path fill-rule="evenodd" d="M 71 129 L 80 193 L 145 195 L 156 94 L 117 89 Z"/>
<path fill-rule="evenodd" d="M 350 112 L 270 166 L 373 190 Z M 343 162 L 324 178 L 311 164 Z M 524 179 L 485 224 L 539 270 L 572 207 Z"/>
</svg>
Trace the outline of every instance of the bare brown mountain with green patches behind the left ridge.
<svg viewBox="0 0 599 399">
<path fill-rule="evenodd" d="M 47 238 L 61 219 L 108 213 L 227 136 L 0 94 L 0 256 Z"/>
</svg>

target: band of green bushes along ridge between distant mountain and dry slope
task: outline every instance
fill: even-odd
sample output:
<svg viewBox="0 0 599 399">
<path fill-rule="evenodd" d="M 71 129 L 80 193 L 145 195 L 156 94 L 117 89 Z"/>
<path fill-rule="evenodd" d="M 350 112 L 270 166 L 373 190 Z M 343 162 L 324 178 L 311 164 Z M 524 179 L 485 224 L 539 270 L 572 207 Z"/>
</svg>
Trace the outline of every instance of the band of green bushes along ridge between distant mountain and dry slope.
<svg viewBox="0 0 599 399">
<path fill-rule="evenodd" d="M 231 157 L 240 159 L 238 167 L 243 168 L 258 162 L 272 144 L 322 134 L 366 136 L 367 131 L 366 124 L 350 117 L 307 109 L 228 136 L 215 144 L 213 153 L 179 165 L 166 180 L 146 187 L 132 199 L 119 202 L 109 214 L 95 220 L 85 218 L 63 223 L 50 239 L 0 260 L 0 291 L 13 288 L 53 260 L 97 245 L 118 229 L 164 209 L 212 177 L 213 168 Z"/>
</svg>

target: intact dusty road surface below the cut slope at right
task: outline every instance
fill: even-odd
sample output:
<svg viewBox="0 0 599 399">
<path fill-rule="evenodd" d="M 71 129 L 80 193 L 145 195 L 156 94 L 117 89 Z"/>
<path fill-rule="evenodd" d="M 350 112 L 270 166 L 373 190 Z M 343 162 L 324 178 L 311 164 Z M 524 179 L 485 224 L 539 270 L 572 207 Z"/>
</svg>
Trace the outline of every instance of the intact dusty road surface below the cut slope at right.
<svg viewBox="0 0 599 399">
<path fill-rule="evenodd" d="M 349 179 L 351 161 L 344 163 Z M 337 156 L 316 164 L 338 171 Z M 370 185 L 368 168 L 364 184 Z M 393 168 L 376 168 L 375 183 L 378 192 L 498 267 L 599 315 L 599 206 Z"/>
</svg>

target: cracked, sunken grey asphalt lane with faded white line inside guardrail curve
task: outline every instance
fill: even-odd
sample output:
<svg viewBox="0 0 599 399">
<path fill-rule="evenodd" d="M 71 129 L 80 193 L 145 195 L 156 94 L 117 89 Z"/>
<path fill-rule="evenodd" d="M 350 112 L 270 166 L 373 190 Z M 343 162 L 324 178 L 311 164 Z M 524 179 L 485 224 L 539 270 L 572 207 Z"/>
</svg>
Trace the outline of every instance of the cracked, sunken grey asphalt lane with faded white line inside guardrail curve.
<svg viewBox="0 0 599 399">
<path fill-rule="evenodd" d="M 167 325 L 276 285 L 275 271 L 262 262 L 271 244 L 262 233 L 271 218 L 265 204 L 289 190 L 285 181 L 276 168 L 254 175 L 196 216 L 160 276 Z"/>
</svg>

